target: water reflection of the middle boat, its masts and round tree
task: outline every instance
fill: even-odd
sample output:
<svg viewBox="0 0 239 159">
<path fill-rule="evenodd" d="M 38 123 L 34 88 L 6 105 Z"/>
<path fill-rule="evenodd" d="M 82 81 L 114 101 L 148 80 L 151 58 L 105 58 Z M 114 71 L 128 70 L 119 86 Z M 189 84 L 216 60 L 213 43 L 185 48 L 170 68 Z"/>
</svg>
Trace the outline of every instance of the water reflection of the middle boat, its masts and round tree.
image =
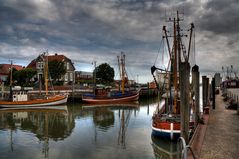
<svg viewBox="0 0 239 159">
<path fill-rule="evenodd" d="M 85 111 L 92 111 L 95 142 L 97 142 L 97 130 L 107 132 L 108 129 L 116 126 L 116 122 L 118 122 L 117 143 L 121 148 L 126 148 L 126 131 L 132 112 L 139 110 L 139 103 L 83 105 L 82 107 Z"/>
</svg>

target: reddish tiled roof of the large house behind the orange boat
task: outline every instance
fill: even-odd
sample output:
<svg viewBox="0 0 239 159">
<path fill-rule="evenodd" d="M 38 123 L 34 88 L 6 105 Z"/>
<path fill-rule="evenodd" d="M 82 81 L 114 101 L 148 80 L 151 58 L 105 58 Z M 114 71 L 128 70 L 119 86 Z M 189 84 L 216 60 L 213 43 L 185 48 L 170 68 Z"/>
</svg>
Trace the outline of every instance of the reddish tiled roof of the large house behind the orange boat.
<svg viewBox="0 0 239 159">
<path fill-rule="evenodd" d="M 38 56 L 36 59 L 32 60 L 30 62 L 30 64 L 28 64 L 27 68 L 36 68 L 36 62 L 39 59 L 39 57 L 40 56 Z M 58 54 L 48 55 L 48 61 L 54 61 L 54 60 L 62 61 L 62 62 L 69 61 L 72 63 L 72 61 L 69 58 L 67 58 L 65 55 L 58 55 Z M 73 63 L 72 63 L 72 65 L 73 65 Z M 74 65 L 73 65 L 73 67 L 74 67 Z M 75 69 L 75 67 L 74 67 L 74 69 Z"/>
</svg>

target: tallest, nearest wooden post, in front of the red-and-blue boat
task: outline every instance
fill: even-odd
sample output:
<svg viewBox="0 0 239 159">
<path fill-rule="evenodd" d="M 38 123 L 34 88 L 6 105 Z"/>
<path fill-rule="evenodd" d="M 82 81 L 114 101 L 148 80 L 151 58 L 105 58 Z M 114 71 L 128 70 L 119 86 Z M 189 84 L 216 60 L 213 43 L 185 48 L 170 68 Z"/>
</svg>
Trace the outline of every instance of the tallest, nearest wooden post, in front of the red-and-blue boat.
<svg viewBox="0 0 239 159">
<path fill-rule="evenodd" d="M 189 74 L 188 62 L 180 63 L 180 114 L 181 114 L 181 136 L 186 143 L 189 142 Z"/>
</svg>

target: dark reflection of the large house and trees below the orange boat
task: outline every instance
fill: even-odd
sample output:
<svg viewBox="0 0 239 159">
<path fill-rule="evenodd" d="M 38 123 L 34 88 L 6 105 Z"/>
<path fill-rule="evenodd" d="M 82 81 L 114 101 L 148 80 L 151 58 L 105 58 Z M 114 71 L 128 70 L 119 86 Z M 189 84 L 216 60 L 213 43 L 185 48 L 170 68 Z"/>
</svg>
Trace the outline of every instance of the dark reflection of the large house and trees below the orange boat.
<svg viewBox="0 0 239 159">
<path fill-rule="evenodd" d="M 18 129 L 35 134 L 42 143 L 42 153 L 48 156 L 49 139 L 63 140 L 74 127 L 69 121 L 67 106 L 29 109 L 0 109 L 0 130 L 10 131 L 10 147 L 14 151 L 13 132 Z"/>
</svg>

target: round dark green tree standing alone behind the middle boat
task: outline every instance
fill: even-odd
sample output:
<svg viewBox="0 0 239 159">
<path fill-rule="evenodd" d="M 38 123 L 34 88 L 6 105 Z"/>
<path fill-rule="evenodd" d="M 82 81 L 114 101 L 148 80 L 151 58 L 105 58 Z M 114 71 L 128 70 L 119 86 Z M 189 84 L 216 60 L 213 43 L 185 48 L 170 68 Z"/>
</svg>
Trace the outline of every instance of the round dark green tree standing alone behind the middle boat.
<svg viewBox="0 0 239 159">
<path fill-rule="evenodd" d="M 101 84 L 111 84 L 114 81 L 115 72 L 109 64 L 103 63 L 95 68 L 96 82 Z"/>
</svg>

